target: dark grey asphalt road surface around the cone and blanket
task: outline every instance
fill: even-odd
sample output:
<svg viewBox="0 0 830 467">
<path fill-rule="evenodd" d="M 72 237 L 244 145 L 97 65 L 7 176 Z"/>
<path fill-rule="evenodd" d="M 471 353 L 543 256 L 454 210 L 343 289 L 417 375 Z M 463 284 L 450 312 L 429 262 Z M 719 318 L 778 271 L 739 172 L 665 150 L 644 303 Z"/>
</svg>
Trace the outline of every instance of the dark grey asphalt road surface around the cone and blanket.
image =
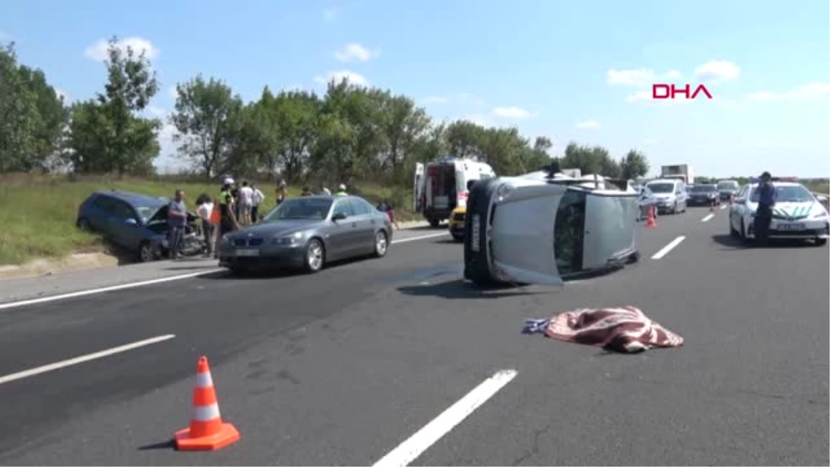
<svg viewBox="0 0 830 467">
<path fill-rule="evenodd" d="M 404 451 L 424 466 L 823 465 L 830 249 L 744 248 L 724 210 L 708 214 L 662 216 L 640 263 L 563 288 L 476 291 L 447 236 L 314 277 L 214 274 L 0 310 L 0 381 L 175 336 L 0 382 L 0 465 L 407 465 Z M 525 317 L 614 305 L 685 347 L 618 356 L 520 334 Z M 175 452 L 201 354 L 242 440 Z M 503 370 L 515 377 L 466 404 Z"/>
</svg>

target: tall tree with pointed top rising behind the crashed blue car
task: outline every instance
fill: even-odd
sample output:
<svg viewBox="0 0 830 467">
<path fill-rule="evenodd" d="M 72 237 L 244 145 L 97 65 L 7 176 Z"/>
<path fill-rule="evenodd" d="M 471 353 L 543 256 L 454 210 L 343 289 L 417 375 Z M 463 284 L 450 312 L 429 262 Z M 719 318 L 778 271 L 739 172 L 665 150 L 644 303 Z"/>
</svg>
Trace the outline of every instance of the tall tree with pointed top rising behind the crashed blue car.
<svg viewBox="0 0 830 467">
<path fill-rule="evenodd" d="M 159 91 L 155 72 L 144 52 L 122 51 L 117 42 L 110 39 L 105 91 L 72 109 L 68 143 L 77 172 L 144 175 L 159 155 L 161 122 L 136 115 Z"/>
</svg>

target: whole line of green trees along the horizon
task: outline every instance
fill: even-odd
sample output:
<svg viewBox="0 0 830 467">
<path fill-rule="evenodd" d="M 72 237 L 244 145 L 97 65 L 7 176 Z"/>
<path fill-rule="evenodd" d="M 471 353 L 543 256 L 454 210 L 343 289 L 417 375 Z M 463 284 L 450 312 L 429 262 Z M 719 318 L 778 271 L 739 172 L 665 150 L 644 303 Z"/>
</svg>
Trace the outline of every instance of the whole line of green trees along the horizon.
<svg viewBox="0 0 830 467">
<path fill-rule="evenodd" d="M 0 47 L 0 171 L 149 175 L 159 156 L 159 131 L 175 126 L 177 157 L 211 178 L 275 175 L 290 183 L 373 180 L 408 186 L 415 163 L 439 156 L 476 156 L 497 174 L 549 165 L 549 138 L 467 120 L 437 122 L 412 98 L 376 87 L 331 81 L 325 93 L 271 91 L 245 102 L 227 82 L 194 76 L 176 86 L 168 121 L 143 116 L 159 92 L 144 53 L 110 40 L 106 81 L 94 98 L 67 106 L 40 70 Z M 631 150 L 614 159 L 603 147 L 571 143 L 563 168 L 636 178 L 649 165 Z"/>
</svg>

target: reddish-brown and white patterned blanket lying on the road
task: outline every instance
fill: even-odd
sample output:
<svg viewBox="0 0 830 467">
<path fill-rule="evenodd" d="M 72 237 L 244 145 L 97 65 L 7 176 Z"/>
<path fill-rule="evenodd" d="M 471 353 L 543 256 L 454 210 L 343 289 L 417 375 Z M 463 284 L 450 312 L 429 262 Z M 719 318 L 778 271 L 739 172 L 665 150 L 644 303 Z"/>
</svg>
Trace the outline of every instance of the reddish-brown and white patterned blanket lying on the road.
<svg viewBox="0 0 830 467">
<path fill-rule="evenodd" d="M 583 308 L 550 319 L 528 319 L 522 332 L 620 353 L 683 345 L 683 337 L 653 322 L 637 307 Z"/>
</svg>

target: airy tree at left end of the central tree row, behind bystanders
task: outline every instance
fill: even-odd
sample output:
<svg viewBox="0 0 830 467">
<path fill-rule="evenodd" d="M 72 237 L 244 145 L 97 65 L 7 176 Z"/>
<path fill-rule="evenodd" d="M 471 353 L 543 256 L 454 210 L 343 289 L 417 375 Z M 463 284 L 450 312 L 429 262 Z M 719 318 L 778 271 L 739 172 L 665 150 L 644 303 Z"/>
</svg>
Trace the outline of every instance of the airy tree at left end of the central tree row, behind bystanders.
<svg viewBox="0 0 830 467">
<path fill-rule="evenodd" d="M 248 128 L 240 125 L 242 98 L 234 96 L 231 86 L 224 81 L 213 78 L 205 81 L 202 75 L 176 85 L 176 93 L 176 111 L 170 122 L 178 130 L 174 138 L 181 143 L 178 152 L 193 160 L 210 179 L 217 166 L 225 164 L 233 139 L 237 139 L 237 148 L 242 140 L 250 141 L 250 135 L 238 140 Z M 236 165 L 242 165 L 242 161 L 237 160 Z"/>
</svg>

